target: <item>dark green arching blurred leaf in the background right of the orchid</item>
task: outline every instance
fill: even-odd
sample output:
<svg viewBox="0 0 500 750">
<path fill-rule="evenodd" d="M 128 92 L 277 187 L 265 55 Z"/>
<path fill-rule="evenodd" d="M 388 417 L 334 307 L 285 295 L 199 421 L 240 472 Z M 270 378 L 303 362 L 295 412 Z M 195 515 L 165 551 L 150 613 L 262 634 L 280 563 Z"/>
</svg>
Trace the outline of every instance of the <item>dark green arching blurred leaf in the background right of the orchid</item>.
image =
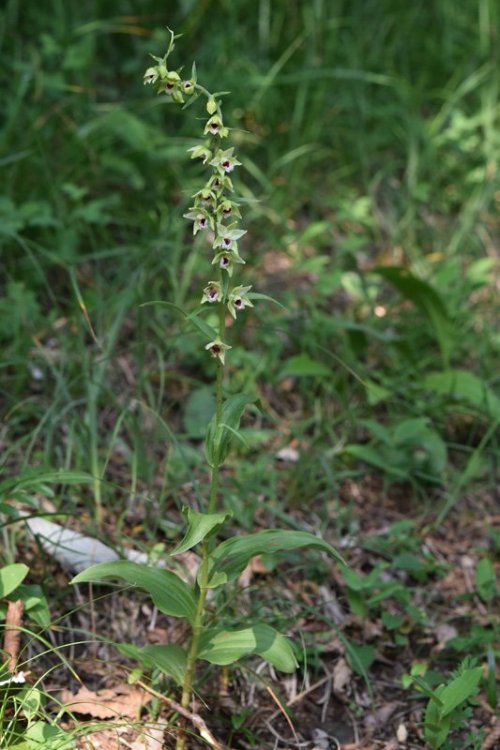
<svg viewBox="0 0 500 750">
<path fill-rule="evenodd" d="M 453 345 L 453 327 L 446 305 L 434 287 L 400 266 L 379 266 L 373 273 L 382 276 L 427 316 L 447 362 Z"/>
</svg>

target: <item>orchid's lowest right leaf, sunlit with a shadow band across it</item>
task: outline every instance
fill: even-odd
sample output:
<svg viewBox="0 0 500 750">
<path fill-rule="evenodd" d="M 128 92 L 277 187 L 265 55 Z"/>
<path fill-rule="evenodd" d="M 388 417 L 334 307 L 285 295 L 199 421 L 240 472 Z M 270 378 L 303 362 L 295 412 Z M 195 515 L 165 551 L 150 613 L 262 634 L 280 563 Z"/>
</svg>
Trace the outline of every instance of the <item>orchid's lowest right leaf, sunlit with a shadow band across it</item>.
<svg viewBox="0 0 500 750">
<path fill-rule="evenodd" d="M 208 633 L 202 637 L 198 656 L 223 665 L 250 654 L 258 654 L 282 672 L 294 672 L 298 666 L 290 641 L 269 625 Z"/>
</svg>

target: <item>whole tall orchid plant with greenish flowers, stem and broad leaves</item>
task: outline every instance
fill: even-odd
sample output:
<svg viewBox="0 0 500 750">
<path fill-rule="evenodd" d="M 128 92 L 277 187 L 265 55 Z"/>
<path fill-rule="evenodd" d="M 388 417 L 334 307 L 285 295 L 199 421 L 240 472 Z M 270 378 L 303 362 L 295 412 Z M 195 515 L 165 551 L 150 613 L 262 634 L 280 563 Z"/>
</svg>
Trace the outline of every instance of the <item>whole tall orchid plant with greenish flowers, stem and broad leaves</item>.
<svg viewBox="0 0 500 750">
<path fill-rule="evenodd" d="M 246 627 L 228 630 L 211 612 L 207 619 L 207 595 L 219 587 L 238 579 L 256 555 L 285 552 L 299 547 L 315 547 L 343 564 L 336 550 L 322 539 L 303 531 L 266 529 L 246 536 L 235 535 L 229 527 L 231 514 L 218 508 L 220 467 L 231 445 L 239 437 L 239 424 L 244 410 L 255 399 L 244 393 L 234 393 L 228 378 L 228 359 L 231 345 L 226 335 L 226 319 L 236 318 L 253 301 L 265 295 L 251 293 L 251 287 L 236 283 L 237 271 L 245 264 L 240 254 L 239 241 L 246 234 L 240 226 L 240 206 L 233 198 L 231 174 L 241 166 L 234 147 L 225 147 L 230 130 L 225 124 L 221 93 L 211 93 L 198 83 L 193 65 L 189 78 L 182 69 L 170 67 L 169 57 L 177 37 L 170 32 L 170 43 L 163 57 L 154 57 L 144 82 L 153 85 L 160 96 L 184 109 L 199 99 L 205 99 L 206 121 L 200 143 L 189 149 L 191 158 L 201 159 L 210 170 L 204 185 L 193 195 L 193 205 L 185 214 L 193 226 L 193 234 L 204 234 L 209 254 L 207 270 L 211 268 L 201 291 L 199 309 L 184 313 L 195 327 L 206 336 L 204 347 L 216 360 L 215 414 L 206 431 L 205 452 L 210 467 L 210 486 L 207 488 L 206 509 L 203 512 L 185 508 L 187 529 L 182 540 L 170 552 L 170 557 L 194 547 L 200 551 L 200 564 L 193 586 L 176 573 L 160 567 L 139 565 L 128 561 L 102 563 L 80 573 L 73 583 L 114 578 L 145 590 L 158 609 L 173 617 L 187 620 L 190 638 L 187 644 L 149 645 L 142 650 L 121 647 L 139 659 L 147 668 L 159 668 L 170 675 L 181 689 L 181 707 L 188 709 L 193 695 L 196 665 L 204 660 L 216 665 L 228 665 L 257 654 L 276 669 L 292 672 L 297 667 L 294 649 L 289 640 L 271 626 L 254 622 Z M 211 252 L 210 252 L 211 251 Z M 217 310 L 214 328 L 203 319 L 207 308 Z M 223 532 L 224 541 L 216 536 Z M 220 617 L 220 615 L 219 615 Z M 178 734 L 176 750 L 186 747 L 186 734 Z"/>
</svg>

